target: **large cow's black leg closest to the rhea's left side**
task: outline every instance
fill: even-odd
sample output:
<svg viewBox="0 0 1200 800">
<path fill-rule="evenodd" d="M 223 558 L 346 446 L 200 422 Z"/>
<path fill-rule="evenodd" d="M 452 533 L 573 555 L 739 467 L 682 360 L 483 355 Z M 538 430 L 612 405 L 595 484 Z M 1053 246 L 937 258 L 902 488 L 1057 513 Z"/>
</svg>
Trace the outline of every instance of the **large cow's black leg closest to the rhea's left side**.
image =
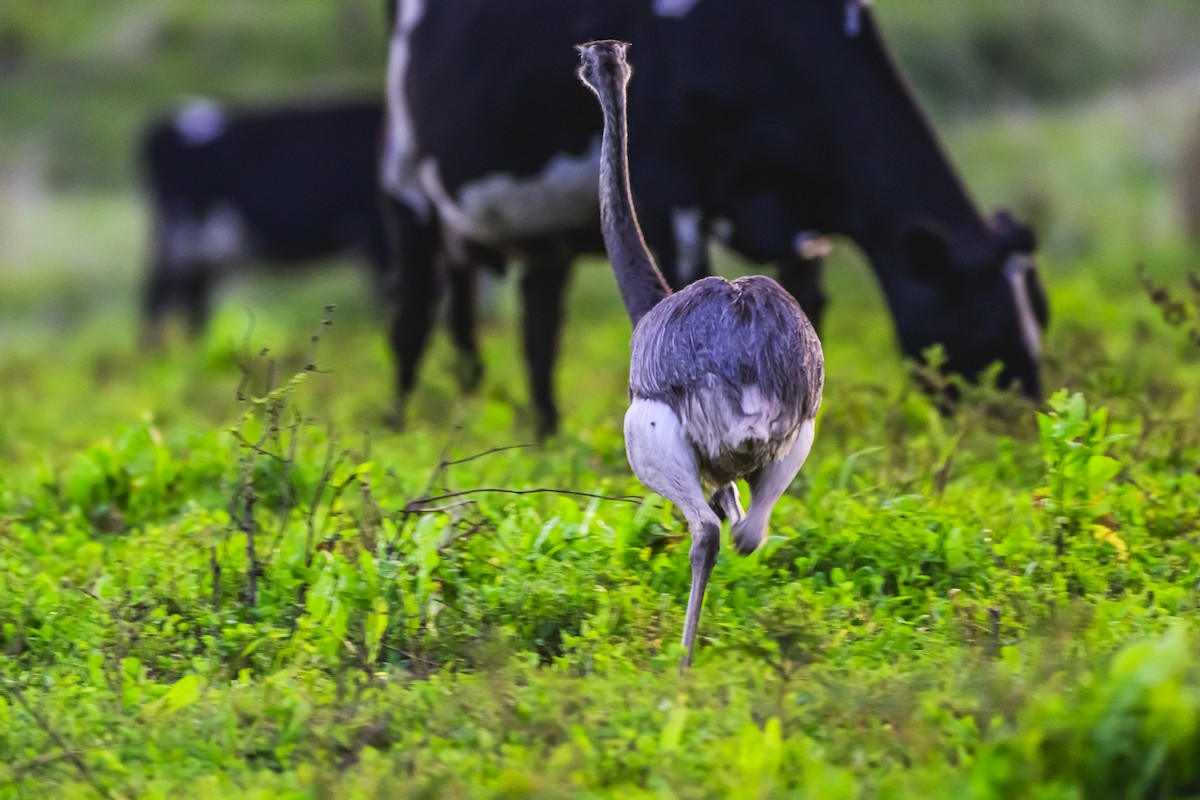
<svg viewBox="0 0 1200 800">
<path fill-rule="evenodd" d="M 554 362 L 563 327 L 563 296 L 570 273 L 570 257 L 532 259 L 521 276 L 524 307 L 524 354 L 529 389 L 538 414 L 538 438 L 558 431 L 554 403 Z"/>
</svg>

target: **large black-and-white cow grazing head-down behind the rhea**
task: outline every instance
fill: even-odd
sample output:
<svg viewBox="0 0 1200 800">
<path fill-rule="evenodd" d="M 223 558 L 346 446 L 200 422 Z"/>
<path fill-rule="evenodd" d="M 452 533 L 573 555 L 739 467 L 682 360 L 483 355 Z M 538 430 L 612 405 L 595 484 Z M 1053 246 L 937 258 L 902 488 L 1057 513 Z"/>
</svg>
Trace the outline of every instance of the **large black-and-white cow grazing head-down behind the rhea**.
<svg viewBox="0 0 1200 800">
<path fill-rule="evenodd" d="M 820 323 L 814 234 L 870 259 L 912 357 L 1040 393 L 1045 296 L 1033 236 L 983 217 L 862 0 L 397 0 L 384 188 L 401 231 L 392 343 L 401 398 L 432 325 L 439 247 L 526 263 L 524 339 L 541 432 L 568 266 L 598 248 L 600 116 L 572 44 L 634 42 L 630 162 L 668 281 L 707 271 L 709 234 L 773 263 Z M 455 272 L 456 270 L 451 270 Z"/>
</svg>

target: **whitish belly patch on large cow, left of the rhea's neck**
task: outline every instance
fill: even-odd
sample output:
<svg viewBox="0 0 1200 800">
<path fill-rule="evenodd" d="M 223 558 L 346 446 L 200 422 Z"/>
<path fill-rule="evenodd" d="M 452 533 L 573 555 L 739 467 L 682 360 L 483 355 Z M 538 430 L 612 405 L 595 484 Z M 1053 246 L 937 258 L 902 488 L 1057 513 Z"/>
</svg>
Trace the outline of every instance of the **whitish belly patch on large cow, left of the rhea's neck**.
<svg viewBox="0 0 1200 800">
<path fill-rule="evenodd" d="M 583 155 L 556 155 L 529 178 L 493 173 L 464 184 L 457 198 L 442 182 L 436 158 L 422 161 L 418 176 L 442 222 L 463 239 L 503 245 L 557 234 L 590 225 L 599 216 L 600 139 Z"/>
</svg>

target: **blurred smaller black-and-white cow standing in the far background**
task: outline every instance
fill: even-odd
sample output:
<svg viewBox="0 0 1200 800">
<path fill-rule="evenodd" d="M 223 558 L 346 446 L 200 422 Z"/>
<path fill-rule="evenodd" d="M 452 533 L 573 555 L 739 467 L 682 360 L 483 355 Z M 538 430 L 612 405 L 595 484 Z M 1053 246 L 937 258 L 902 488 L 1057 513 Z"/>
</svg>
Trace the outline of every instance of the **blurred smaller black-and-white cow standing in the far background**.
<svg viewBox="0 0 1200 800">
<path fill-rule="evenodd" d="M 151 125 L 142 143 L 152 241 L 148 341 L 172 307 L 193 332 L 214 281 L 250 261 L 358 251 L 379 285 L 391 271 L 378 187 L 379 102 L 241 109 L 200 101 Z"/>
</svg>

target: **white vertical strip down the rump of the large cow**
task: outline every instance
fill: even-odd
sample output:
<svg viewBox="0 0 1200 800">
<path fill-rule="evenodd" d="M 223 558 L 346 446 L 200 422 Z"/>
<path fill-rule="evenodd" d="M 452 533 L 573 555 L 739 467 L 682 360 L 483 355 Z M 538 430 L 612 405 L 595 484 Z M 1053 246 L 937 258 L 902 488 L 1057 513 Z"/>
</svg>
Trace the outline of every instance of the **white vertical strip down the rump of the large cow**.
<svg viewBox="0 0 1200 800">
<path fill-rule="evenodd" d="M 416 176 L 416 133 L 404 92 L 404 78 L 412 55 L 413 31 L 424 16 L 425 0 L 398 0 L 396 28 L 388 48 L 388 130 L 379 158 L 379 182 L 384 191 L 413 209 L 422 221 L 430 216 L 430 204 Z"/>
</svg>

